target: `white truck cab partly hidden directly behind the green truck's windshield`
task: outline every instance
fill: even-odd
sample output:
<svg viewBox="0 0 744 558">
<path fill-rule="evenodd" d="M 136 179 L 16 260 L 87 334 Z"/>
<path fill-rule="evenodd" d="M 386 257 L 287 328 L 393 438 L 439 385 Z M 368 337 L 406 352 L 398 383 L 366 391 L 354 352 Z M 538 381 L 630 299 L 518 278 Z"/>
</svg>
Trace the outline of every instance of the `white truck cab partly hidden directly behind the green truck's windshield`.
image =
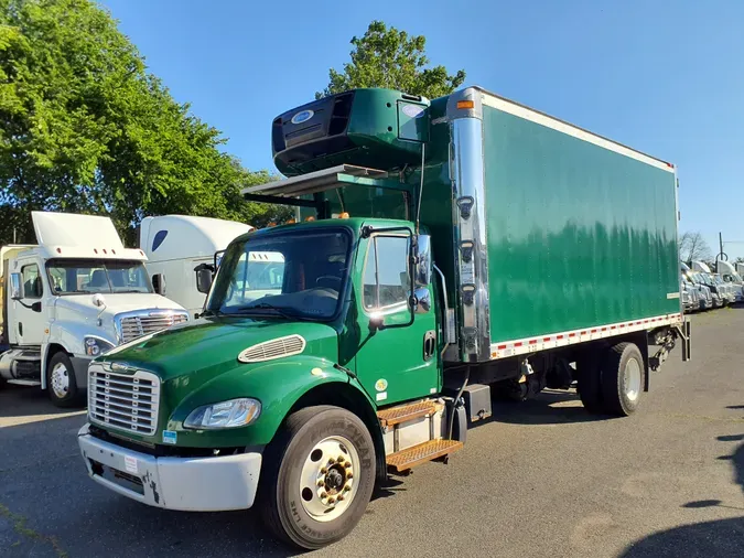
<svg viewBox="0 0 744 558">
<path fill-rule="evenodd" d="M 215 254 L 252 229 L 244 223 L 211 217 L 144 217 L 140 225 L 140 249 L 148 257 L 148 270 L 160 292 L 195 316 L 202 311 L 205 294 L 196 288 L 194 268 L 216 267 Z"/>
</svg>

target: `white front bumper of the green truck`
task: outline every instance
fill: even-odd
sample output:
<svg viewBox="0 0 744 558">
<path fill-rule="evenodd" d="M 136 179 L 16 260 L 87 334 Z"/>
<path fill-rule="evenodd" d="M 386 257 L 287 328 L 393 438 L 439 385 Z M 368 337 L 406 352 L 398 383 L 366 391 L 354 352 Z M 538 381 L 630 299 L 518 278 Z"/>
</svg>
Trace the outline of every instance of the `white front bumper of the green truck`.
<svg viewBox="0 0 744 558">
<path fill-rule="evenodd" d="M 246 509 L 254 505 L 261 453 L 214 458 L 154 458 L 94 438 L 77 441 L 90 477 L 150 506 L 183 512 Z"/>
</svg>

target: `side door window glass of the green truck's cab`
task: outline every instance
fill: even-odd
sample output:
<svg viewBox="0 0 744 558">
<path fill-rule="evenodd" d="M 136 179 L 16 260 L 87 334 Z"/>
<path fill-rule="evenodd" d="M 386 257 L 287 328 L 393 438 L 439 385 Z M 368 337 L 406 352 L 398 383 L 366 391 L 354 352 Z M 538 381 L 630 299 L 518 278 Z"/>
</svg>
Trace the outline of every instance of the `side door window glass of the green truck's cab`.
<svg viewBox="0 0 744 558">
<path fill-rule="evenodd" d="M 364 270 L 365 310 L 406 304 L 411 291 L 408 253 L 406 236 L 373 237 Z"/>
</svg>

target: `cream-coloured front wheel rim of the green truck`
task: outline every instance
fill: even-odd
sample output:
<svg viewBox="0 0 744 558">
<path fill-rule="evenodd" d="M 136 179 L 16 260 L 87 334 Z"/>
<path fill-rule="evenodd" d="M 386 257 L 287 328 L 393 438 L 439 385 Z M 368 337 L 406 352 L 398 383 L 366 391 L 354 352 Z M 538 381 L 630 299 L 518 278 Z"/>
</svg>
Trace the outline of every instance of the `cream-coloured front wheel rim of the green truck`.
<svg viewBox="0 0 744 558">
<path fill-rule="evenodd" d="M 343 436 L 330 436 L 310 450 L 300 474 L 300 502 L 317 522 L 343 515 L 357 492 L 359 453 Z"/>
</svg>

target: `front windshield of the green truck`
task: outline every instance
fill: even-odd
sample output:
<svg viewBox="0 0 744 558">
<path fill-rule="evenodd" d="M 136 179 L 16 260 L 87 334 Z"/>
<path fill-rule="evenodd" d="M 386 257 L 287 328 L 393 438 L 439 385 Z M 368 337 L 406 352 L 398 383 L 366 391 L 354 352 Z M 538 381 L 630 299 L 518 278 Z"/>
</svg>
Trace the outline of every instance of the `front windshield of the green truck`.
<svg viewBox="0 0 744 558">
<path fill-rule="evenodd" d="M 351 236 L 342 229 L 250 237 L 220 262 L 207 310 L 327 319 L 346 282 Z"/>
</svg>

